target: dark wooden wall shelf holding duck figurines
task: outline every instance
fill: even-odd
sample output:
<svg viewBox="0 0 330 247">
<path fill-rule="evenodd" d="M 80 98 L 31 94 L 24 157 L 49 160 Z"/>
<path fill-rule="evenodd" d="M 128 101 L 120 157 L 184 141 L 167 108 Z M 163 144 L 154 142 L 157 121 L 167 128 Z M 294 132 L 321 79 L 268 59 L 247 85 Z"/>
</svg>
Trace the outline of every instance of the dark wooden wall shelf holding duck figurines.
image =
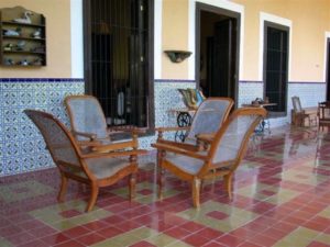
<svg viewBox="0 0 330 247">
<path fill-rule="evenodd" d="M 16 22 L 31 12 L 31 23 Z M 0 9 L 0 65 L 10 67 L 46 66 L 46 20 L 22 7 Z M 38 33 L 38 34 L 37 34 Z"/>
</svg>

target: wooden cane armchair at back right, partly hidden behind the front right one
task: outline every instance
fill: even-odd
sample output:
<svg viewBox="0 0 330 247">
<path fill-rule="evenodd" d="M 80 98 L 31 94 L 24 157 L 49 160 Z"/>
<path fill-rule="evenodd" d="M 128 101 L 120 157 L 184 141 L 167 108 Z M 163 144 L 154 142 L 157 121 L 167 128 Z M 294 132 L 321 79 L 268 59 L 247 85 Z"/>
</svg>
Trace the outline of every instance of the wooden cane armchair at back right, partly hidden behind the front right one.
<svg viewBox="0 0 330 247">
<path fill-rule="evenodd" d="M 230 98 L 208 98 L 197 109 L 191 126 L 157 127 L 157 143 L 166 143 L 167 145 L 180 148 L 195 149 L 198 146 L 196 135 L 201 133 L 216 133 L 223 121 L 228 117 L 232 106 L 233 100 Z M 184 143 L 164 139 L 164 132 L 170 131 L 187 131 Z"/>
</svg>

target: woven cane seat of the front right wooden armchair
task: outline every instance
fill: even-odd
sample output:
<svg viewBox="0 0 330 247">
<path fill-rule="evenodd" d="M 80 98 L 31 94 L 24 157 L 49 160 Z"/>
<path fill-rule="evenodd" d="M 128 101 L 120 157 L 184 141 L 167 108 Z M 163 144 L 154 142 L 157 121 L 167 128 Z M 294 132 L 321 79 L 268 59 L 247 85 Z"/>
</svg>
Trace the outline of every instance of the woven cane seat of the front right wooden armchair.
<svg viewBox="0 0 330 247">
<path fill-rule="evenodd" d="M 191 158 L 184 155 L 177 155 L 169 151 L 166 153 L 165 160 L 189 175 L 197 175 L 204 166 L 204 161 L 200 159 Z"/>
</svg>

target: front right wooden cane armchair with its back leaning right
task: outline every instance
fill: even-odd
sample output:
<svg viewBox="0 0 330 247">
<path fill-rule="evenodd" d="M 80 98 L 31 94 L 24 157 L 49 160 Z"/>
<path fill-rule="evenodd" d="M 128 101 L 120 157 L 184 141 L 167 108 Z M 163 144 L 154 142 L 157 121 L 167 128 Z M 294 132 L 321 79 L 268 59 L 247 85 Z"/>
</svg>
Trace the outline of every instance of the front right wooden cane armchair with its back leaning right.
<svg viewBox="0 0 330 247">
<path fill-rule="evenodd" d="M 266 116 L 263 108 L 235 110 L 210 139 L 205 151 L 189 150 L 167 143 L 155 143 L 158 166 L 158 198 L 162 199 L 164 169 L 193 186 L 193 202 L 199 207 L 200 184 L 205 179 L 222 176 L 231 198 L 231 180 L 240 165 L 251 134 Z"/>
</svg>

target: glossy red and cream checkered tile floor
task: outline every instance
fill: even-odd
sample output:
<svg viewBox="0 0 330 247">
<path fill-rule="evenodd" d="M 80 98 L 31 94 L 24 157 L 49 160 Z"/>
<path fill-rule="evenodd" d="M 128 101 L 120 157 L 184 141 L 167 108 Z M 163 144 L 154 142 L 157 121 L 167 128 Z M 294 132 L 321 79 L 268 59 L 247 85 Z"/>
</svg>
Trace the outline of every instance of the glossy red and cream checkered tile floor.
<svg viewBox="0 0 330 247">
<path fill-rule="evenodd" d="M 221 179 L 206 182 L 200 210 L 190 188 L 167 175 L 156 199 L 155 166 L 142 165 L 136 199 L 127 181 L 103 189 L 84 213 L 89 189 L 70 183 L 56 202 L 56 169 L 0 179 L 0 246 L 330 246 L 330 136 L 280 128 L 257 136 L 239 167 L 230 201 Z"/>
</svg>

